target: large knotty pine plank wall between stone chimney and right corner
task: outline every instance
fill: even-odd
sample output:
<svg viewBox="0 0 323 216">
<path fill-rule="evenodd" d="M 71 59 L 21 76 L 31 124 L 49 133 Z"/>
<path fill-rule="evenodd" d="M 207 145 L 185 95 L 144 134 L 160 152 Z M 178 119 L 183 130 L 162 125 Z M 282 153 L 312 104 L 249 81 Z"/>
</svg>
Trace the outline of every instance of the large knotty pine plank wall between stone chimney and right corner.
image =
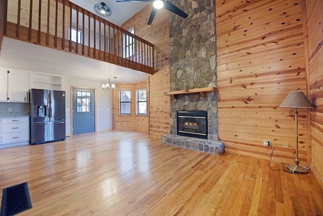
<svg viewBox="0 0 323 216">
<path fill-rule="evenodd" d="M 216 1 L 219 137 L 226 151 L 266 158 L 263 139 L 270 139 L 276 161 L 293 164 L 294 112 L 279 105 L 290 91 L 306 93 L 302 4 Z M 309 118 L 300 112 L 299 159 L 308 165 Z"/>
</svg>

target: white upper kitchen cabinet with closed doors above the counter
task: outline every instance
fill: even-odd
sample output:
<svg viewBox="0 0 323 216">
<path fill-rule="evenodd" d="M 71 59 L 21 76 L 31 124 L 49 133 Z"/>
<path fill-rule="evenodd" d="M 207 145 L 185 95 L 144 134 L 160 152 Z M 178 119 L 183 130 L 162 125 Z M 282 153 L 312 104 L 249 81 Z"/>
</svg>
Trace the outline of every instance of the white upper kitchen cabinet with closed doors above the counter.
<svg viewBox="0 0 323 216">
<path fill-rule="evenodd" d="M 29 72 L 0 68 L 0 101 L 28 102 Z"/>
</svg>

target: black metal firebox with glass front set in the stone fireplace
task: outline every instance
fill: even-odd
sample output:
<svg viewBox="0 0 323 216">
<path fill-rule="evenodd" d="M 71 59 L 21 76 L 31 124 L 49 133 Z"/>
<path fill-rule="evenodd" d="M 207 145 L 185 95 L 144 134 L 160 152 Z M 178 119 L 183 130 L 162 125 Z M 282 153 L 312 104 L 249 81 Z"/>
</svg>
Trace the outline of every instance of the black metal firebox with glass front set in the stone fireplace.
<svg viewBox="0 0 323 216">
<path fill-rule="evenodd" d="M 206 111 L 177 111 L 177 135 L 207 139 Z"/>
</svg>

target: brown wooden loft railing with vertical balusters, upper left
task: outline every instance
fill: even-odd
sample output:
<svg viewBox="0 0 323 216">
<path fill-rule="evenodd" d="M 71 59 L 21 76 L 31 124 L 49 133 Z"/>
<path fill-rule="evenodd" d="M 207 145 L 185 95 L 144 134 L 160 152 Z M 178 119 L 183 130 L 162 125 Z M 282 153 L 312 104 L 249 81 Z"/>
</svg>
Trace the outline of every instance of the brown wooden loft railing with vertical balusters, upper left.
<svg viewBox="0 0 323 216">
<path fill-rule="evenodd" d="M 155 72 L 152 43 L 67 0 L 0 1 L 7 37 L 148 74 Z"/>
</svg>

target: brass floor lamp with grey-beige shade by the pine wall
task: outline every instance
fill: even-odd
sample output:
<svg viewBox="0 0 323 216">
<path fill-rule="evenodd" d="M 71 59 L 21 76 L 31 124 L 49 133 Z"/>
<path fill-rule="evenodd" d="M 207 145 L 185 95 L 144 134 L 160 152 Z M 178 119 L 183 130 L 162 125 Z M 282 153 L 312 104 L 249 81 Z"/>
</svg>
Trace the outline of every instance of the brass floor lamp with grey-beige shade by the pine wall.
<svg viewBox="0 0 323 216">
<path fill-rule="evenodd" d="M 295 165 L 288 165 L 287 169 L 289 169 L 292 172 L 307 173 L 308 170 L 306 168 L 298 166 L 299 159 L 298 159 L 297 109 L 313 108 L 313 105 L 307 99 L 307 97 L 302 91 L 291 91 L 279 107 L 290 107 L 290 108 L 294 108 L 295 110 L 295 151 L 296 151 L 295 159 L 294 159 Z"/>
</svg>

